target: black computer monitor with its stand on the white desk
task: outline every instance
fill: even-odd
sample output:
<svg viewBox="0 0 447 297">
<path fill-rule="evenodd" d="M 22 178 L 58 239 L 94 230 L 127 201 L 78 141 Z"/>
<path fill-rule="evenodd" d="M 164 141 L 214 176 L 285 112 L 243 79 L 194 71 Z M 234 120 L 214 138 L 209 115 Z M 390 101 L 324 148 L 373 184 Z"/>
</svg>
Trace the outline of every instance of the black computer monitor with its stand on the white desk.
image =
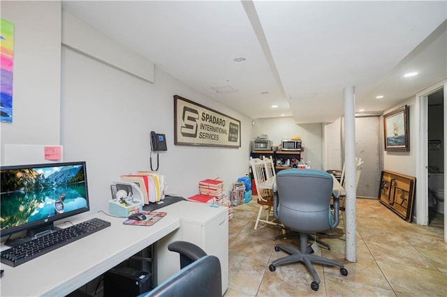
<svg viewBox="0 0 447 297">
<path fill-rule="evenodd" d="M 8 236 L 27 231 L 29 241 L 54 230 L 54 221 L 89 211 L 85 162 L 0 167 L 0 231 Z"/>
</svg>

